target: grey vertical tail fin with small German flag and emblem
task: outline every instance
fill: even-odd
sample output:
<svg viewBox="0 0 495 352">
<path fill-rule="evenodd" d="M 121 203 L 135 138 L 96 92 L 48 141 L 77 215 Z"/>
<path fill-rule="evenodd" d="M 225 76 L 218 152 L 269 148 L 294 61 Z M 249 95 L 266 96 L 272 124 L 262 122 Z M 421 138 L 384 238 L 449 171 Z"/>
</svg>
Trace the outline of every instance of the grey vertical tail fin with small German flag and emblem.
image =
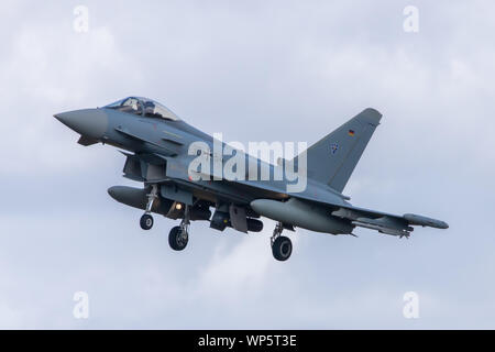
<svg viewBox="0 0 495 352">
<path fill-rule="evenodd" d="M 311 145 L 304 152 L 308 177 L 342 191 L 381 119 L 378 111 L 365 109 Z"/>
</svg>

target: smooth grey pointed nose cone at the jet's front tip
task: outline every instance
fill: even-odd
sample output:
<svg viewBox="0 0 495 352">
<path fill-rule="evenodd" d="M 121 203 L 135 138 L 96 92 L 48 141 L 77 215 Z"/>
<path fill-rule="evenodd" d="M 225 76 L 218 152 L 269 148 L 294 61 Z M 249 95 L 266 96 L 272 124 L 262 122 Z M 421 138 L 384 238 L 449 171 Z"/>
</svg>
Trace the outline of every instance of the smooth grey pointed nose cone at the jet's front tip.
<svg viewBox="0 0 495 352">
<path fill-rule="evenodd" d="M 54 118 L 81 135 L 100 139 L 108 129 L 108 117 L 101 109 L 85 109 L 54 114 Z"/>
</svg>

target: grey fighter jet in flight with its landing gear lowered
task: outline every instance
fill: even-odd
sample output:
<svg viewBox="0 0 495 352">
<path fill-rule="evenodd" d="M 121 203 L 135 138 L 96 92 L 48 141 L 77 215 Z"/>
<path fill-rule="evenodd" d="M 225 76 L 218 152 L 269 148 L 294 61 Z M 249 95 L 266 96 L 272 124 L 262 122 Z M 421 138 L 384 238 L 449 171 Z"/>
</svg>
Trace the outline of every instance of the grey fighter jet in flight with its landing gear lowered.
<svg viewBox="0 0 495 352">
<path fill-rule="evenodd" d="M 299 155 L 279 160 L 277 164 L 263 162 L 244 151 L 232 151 L 232 147 L 229 153 L 217 153 L 218 139 L 187 124 L 165 106 L 147 98 L 129 97 L 103 108 L 54 117 L 80 134 L 79 144 L 103 143 L 123 153 L 123 176 L 142 183 L 143 187 L 113 186 L 108 189 L 109 195 L 121 204 L 144 210 L 140 220 L 143 230 L 153 227 L 152 213 L 179 219 L 179 226 L 172 228 L 168 234 L 168 243 L 175 251 L 186 248 L 189 224 L 195 220 L 207 221 L 217 231 L 232 228 L 244 233 L 262 231 L 262 217 L 275 220 L 270 243 L 277 261 L 288 260 L 293 252 L 290 239 L 282 235 L 284 230 L 301 228 L 354 235 L 353 230 L 361 227 L 408 238 L 414 226 L 449 227 L 424 216 L 397 216 L 355 207 L 350 204 L 350 197 L 342 194 L 382 119 L 382 114 L 371 108 Z M 220 146 L 228 147 L 223 142 Z M 240 172 L 241 176 L 255 177 L 222 175 L 222 167 L 234 157 L 245 162 L 245 165 L 238 163 L 238 176 Z M 206 164 L 191 167 L 198 158 Z M 220 166 L 220 173 L 216 166 Z M 271 175 L 282 168 L 284 177 L 260 178 L 263 168 Z M 289 187 L 294 184 L 294 177 L 289 176 L 295 175 L 295 169 L 301 172 L 304 187 L 300 189 Z"/>
</svg>

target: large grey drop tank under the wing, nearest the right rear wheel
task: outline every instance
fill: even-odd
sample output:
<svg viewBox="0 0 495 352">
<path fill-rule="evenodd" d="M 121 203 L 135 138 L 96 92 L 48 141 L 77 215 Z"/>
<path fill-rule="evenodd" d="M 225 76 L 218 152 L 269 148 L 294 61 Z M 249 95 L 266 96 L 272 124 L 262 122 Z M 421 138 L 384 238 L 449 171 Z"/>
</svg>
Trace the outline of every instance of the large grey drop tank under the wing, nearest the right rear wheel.
<svg viewBox="0 0 495 352">
<path fill-rule="evenodd" d="M 251 202 L 251 208 L 272 220 L 316 232 L 344 234 L 351 233 L 354 229 L 350 221 L 336 218 L 327 209 L 296 198 L 290 198 L 285 202 L 256 199 Z"/>
</svg>

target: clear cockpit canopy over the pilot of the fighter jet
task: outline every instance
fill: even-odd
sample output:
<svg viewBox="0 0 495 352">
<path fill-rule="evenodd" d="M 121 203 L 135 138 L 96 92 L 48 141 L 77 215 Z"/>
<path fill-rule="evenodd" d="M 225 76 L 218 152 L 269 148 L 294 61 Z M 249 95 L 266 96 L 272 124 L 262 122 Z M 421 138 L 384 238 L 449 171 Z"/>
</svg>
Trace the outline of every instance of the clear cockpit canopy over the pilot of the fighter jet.
<svg viewBox="0 0 495 352">
<path fill-rule="evenodd" d="M 180 120 L 174 112 L 168 110 L 168 108 L 164 107 L 160 102 L 142 97 L 129 97 L 112 102 L 105 108 L 133 113 L 136 116 L 165 119 L 169 121 Z"/>
</svg>

